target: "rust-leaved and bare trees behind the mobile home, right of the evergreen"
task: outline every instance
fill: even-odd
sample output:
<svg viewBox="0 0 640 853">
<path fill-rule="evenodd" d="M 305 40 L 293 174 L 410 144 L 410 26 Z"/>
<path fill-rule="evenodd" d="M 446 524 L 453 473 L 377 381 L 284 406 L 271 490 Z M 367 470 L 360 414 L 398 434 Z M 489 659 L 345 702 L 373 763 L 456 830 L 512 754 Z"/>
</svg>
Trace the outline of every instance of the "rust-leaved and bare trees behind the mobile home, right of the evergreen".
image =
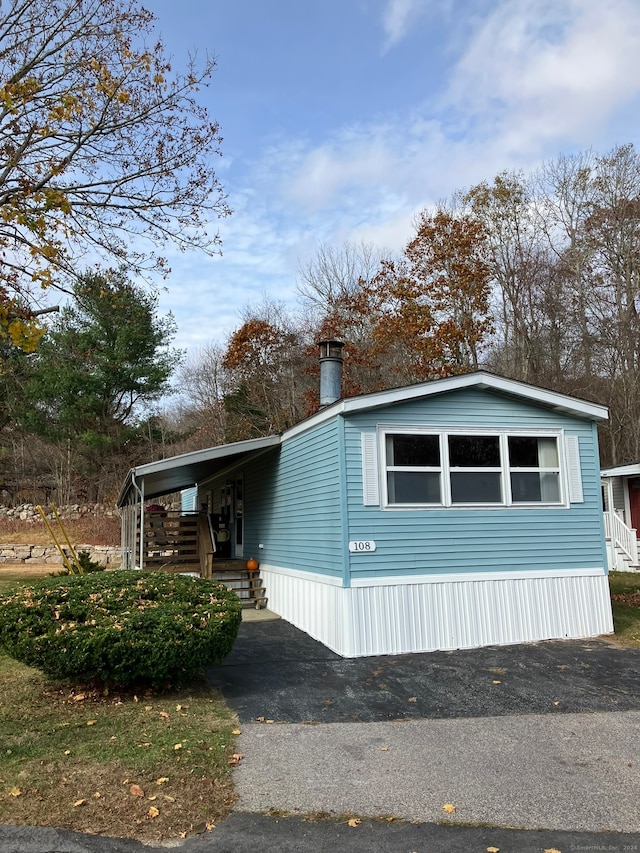
<svg viewBox="0 0 640 853">
<path fill-rule="evenodd" d="M 640 459 L 640 156 L 633 145 L 503 172 L 415 219 L 404 251 L 321 246 L 297 311 L 265 300 L 192 357 L 189 446 L 279 431 L 317 405 L 315 342 L 349 396 L 485 368 L 609 407 L 603 464 Z"/>
</svg>

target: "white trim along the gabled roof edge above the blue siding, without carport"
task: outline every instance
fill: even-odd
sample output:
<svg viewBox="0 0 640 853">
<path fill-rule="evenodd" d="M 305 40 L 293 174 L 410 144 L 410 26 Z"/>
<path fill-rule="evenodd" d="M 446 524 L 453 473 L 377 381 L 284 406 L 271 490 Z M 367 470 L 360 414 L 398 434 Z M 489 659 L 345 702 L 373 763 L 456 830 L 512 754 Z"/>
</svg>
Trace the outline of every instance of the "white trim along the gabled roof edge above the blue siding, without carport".
<svg viewBox="0 0 640 853">
<path fill-rule="evenodd" d="M 589 403 L 577 397 L 569 397 L 566 394 L 558 394 L 556 391 L 537 388 L 535 385 L 528 385 L 526 382 L 518 382 L 515 379 L 505 379 L 493 373 L 477 371 L 475 373 L 463 373 L 460 376 L 448 376 L 445 379 L 435 379 L 430 382 L 421 382 L 417 385 L 407 385 L 403 388 L 392 388 L 389 391 L 379 391 L 374 394 L 364 394 L 360 397 L 349 397 L 345 400 L 338 400 L 338 402 L 327 406 L 315 415 L 311 415 L 305 421 L 286 430 L 282 438 L 283 441 L 293 438 L 323 421 L 330 420 L 336 415 L 365 412 L 369 409 L 377 409 L 395 403 L 404 403 L 421 397 L 431 397 L 436 394 L 446 394 L 449 391 L 458 391 L 463 388 L 486 388 L 590 420 L 607 420 L 609 417 L 608 409 L 605 406 Z"/>
</svg>

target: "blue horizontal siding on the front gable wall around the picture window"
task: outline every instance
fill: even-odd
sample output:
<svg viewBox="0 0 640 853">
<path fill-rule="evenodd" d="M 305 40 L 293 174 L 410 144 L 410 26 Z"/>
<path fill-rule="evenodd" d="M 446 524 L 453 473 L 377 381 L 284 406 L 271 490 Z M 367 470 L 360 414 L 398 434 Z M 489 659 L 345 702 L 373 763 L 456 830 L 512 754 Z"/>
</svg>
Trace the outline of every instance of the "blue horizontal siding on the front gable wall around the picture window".
<svg viewBox="0 0 640 853">
<path fill-rule="evenodd" d="M 570 508 L 363 506 L 360 435 L 377 424 L 495 429 L 563 428 L 580 442 L 584 503 Z M 606 565 L 595 425 L 518 399 L 469 389 L 363 412 L 345 433 L 349 539 L 376 551 L 350 555 L 352 578 L 409 573 L 509 572 Z"/>
</svg>

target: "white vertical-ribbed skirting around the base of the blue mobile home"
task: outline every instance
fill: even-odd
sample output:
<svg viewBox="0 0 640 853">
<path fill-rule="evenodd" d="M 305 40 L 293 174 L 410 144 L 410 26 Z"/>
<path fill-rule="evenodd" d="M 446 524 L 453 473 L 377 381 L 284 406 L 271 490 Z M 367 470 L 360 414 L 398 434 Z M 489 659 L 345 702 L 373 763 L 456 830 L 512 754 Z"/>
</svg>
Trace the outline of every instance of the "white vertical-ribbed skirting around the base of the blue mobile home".
<svg viewBox="0 0 640 853">
<path fill-rule="evenodd" d="M 263 564 L 269 609 L 343 657 L 613 633 L 604 569 L 360 580 Z"/>
</svg>

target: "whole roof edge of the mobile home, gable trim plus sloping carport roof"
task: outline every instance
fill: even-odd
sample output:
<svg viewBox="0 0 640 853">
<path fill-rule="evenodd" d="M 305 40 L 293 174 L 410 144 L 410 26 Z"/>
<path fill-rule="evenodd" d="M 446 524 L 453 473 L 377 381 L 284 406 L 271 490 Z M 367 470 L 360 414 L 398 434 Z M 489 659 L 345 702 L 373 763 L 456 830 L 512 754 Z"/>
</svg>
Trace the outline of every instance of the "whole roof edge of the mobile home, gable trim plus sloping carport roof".
<svg viewBox="0 0 640 853">
<path fill-rule="evenodd" d="M 392 388 L 389 391 L 379 391 L 374 394 L 363 394 L 359 397 L 338 400 L 291 427 L 281 436 L 270 435 L 265 438 L 223 444 L 206 450 L 197 450 L 194 453 L 172 456 L 169 459 L 160 459 L 146 465 L 138 465 L 136 468 L 132 468 L 127 475 L 118 497 L 118 506 L 127 502 L 132 491 L 140 495 L 140 490 L 142 490 L 146 501 L 193 486 L 222 471 L 232 463 L 238 462 L 243 457 L 248 458 L 252 454 L 276 447 L 281 442 L 338 415 L 355 414 L 464 388 L 491 390 L 502 396 L 524 399 L 554 411 L 589 420 L 606 420 L 608 417 L 607 409 L 604 406 L 588 403 L 585 400 L 579 400 L 577 397 L 569 397 L 555 391 L 546 391 L 543 388 L 528 385 L 526 382 L 505 379 L 502 376 L 496 376 L 485 371 L 464 373 L 460 376 L 449 376 L 445 379 L 436 379 L 417 385 Z"/>
</svg>

